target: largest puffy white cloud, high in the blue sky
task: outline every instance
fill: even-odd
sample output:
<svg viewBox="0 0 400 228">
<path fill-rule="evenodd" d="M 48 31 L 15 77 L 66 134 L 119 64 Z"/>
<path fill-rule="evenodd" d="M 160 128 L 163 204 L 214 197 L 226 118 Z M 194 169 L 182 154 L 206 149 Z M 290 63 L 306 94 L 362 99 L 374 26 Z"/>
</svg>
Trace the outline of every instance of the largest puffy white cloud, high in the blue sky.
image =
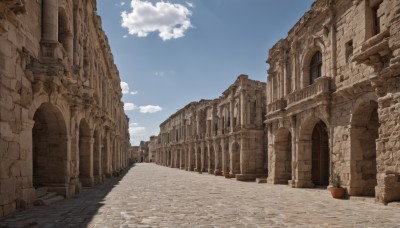
<svg viewBox="0 0 400 228">
<path fill-rule="evenodd" d="M 189 18 L 192 12 L 181 4 L 132 0 L 131 7 L 132 12 L 121 13 L 121 25 L 131 35 L 146 37 L 150 32 L 158 32 L 166 41 L 183 37 L 185 31 L 192 27 Z"/>
</svg>

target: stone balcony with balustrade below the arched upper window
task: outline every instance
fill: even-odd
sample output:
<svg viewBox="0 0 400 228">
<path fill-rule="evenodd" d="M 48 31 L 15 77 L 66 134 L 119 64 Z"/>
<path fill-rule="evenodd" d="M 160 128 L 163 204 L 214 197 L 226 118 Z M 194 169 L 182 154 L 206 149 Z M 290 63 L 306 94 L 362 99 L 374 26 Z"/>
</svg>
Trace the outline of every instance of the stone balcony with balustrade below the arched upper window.
<svg viewBox="0 0 400 228">
<path fill-rule="evenodd" d="M 331 93 L 331 78 L 320 77 L 315 80 L 315 83 L 294 91 L 287 95 L 287 108 L 293 107 L 310 99 Z M 272 103 L 273 104 L 273 103 Z"/>
</svg>

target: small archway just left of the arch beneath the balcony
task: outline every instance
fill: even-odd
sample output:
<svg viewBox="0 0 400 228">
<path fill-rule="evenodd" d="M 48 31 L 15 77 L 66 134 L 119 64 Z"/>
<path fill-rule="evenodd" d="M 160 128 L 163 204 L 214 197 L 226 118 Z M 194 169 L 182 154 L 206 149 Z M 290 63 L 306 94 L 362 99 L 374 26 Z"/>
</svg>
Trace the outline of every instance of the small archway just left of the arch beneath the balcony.
<svg viewBox="0 0 400 228">
<path fill-rule="evenodd" d="M 292 178 L 292 134 L 287 128 L 280 128 L 275 134 L 274 151 L 274 183 L 287 184 Z"/>
</svg>

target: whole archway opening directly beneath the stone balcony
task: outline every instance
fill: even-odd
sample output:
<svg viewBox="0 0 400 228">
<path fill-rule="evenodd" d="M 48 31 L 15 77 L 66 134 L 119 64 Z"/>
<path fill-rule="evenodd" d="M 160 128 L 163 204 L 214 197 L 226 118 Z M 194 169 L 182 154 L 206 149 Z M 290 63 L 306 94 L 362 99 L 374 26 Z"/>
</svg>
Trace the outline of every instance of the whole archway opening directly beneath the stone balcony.
<svg viewBox="0 0 400 228">
<path fill-rule="evenodd" d="M 297 175 L 304 187 L 329 184 L 330 150 L 327 125 L 311 116 L 303 122 L 299 134 Z"/>
</svg>

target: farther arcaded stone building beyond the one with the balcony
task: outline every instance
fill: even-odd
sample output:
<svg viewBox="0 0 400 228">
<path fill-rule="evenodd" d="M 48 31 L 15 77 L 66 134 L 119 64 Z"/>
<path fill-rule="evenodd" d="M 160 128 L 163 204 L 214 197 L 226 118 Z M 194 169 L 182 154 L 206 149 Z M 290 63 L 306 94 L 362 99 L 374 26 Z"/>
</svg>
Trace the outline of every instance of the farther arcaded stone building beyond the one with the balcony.
<svg viewBox="0 0 400 228">
<path fill-rule="evenodd" d="M 238 180 L 266 173 L 265 83 L 240 75 L 215 100 L 192 102 L 160 125 L 156 163 Z"/>
</svg>

